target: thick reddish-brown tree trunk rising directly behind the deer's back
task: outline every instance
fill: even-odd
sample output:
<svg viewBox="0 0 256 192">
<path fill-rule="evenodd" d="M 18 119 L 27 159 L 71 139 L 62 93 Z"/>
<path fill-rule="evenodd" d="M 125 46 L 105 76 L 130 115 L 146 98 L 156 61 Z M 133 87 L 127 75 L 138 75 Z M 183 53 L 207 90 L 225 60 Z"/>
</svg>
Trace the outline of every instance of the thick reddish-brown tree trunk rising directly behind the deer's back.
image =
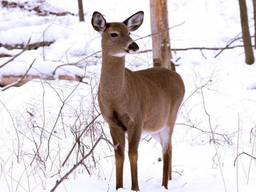
<svg viewBox="0 0 256 192">
<path fill-rule="evenodd" d="M 161 66 L 175 71 L 171 62 L 167 0 L 150 0 L 150 20 L 154 67 Z"/>
</svg>

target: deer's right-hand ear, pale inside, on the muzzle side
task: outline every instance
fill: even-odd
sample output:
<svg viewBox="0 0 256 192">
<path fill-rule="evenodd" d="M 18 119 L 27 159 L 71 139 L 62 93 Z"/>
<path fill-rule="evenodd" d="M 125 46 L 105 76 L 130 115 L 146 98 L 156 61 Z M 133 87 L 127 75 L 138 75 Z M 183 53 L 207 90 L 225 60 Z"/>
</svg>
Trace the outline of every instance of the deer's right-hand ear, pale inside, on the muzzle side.
<svg viewBox="0 0 256 192">
<path fill-rule="evenodd" d="M 141 26 L 143 22 L 143 17 L 144 12 L 139 11 L 136 14 L 130 16 L 128 19 L 124 20 L 123 24 L 125 24 L 128 27 L 129 31 L 135 31 Z"/>
</svg>

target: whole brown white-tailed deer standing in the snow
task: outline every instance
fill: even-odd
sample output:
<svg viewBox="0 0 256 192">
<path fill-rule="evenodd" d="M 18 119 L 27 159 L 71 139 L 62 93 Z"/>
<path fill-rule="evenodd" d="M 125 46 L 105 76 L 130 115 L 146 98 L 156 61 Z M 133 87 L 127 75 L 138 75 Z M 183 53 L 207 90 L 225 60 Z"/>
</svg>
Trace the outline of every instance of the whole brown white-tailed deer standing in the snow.
<svg viewBox="0 0 256 192">
<path fill-rule="evenodd" d="M 98 102 L 108 122 L 116 159 L 116 189 L 123 187 L 125 133 L 128 134 L 128 156 L 132 174 L 132 190 L 139 191 L 138 145 L 143 132 L 151 134 L 162 145 L 163 180 L 168 187 L 172 178 L 172 131 L 183 100 L 182 78 L 165 68 L 131 71 L 124 67 L 125 54 L 139 50 L 130 32 L 143 22 L 144 12 L 124 22 L 107 23 L 102 14 L 92 15 L 93 28 L 102 34 L 102 68 Z"/>
</svg>

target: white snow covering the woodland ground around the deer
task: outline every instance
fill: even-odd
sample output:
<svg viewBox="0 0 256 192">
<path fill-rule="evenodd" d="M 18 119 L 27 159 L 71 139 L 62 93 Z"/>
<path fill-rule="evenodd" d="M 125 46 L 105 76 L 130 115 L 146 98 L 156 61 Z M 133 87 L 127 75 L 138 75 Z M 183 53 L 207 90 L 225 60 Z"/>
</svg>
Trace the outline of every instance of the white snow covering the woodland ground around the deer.
<svg viewBox="0 0 256 192">
<path fill-rule="evenodd" d="M 0 5 L 0 44 L 54 41 L 48 47 L 26 50 L 0 68 L 4 75 L 24 74 L 36 58 L 29 75 L 84 76 L 83 82 L 32 80 L 23 86 L 0 91 L 0 191 L 44 192 L 56 183 L 108 127 L 100 116 L 87 128 L 64 166 L 75 138 L 98 114 L 96 98 L 101 54 L 100 35 L 91 26 L 94 11 L 107 22 L 123 21 L 143 10 L 144 23 L 132 38 L 150 34 L 148 0 L 84 0 L 85 22 L 78 22 L 77 1 L 14 0 L 49 12 L 70 12 L 65 16 L 38 16 L 35 11 Z M 254 34 L 252 1 L 247 1 L 250 34 Z M 238 1 L 170 0 L 169 25 L 172 48 L 225 47 L 241 36 Z M 72 15 L 74 14 L 74 15 Z M 254 40 L 254 39 L 252 39 Z M 136 41 L 140 50 L 151 48 L 150 37 Z M 241 40 L 232 45 L 241 45 Z M 14 56 L 21 50 L 0 47 L 0 54 Z M 176 71 L 182 76 L 186 95 L 172 137 L 172 192 L 255 192 L 256 161 L 256 64 L 247 65 L 243 48 L 219 51 L 187 50 L 172 53 Z M 256 51 L 254 51 L 256 55 Z M 0 58 L 0 65 L 10 57 Z M 126 67 L 152 67 L 152 53 L 126 56 Z M 94 102 L 95 101 L 95 102 Z M 212 131 L 214 132 L 214 143 Z M 146 137 L 146 138 L 145 138 Z M 114 151 L 102 140 L 84 165 L 66 178 L 57 192 L 114 192 Z M 160 144 L 142 136 L 139 146 L 138 179 L 141 191 L 164 192 Z M 131 188 L 130 163 L 126 152 L 124 189 Z M 238 188 L 238 190 L 237 190 Z"/>
</svg>

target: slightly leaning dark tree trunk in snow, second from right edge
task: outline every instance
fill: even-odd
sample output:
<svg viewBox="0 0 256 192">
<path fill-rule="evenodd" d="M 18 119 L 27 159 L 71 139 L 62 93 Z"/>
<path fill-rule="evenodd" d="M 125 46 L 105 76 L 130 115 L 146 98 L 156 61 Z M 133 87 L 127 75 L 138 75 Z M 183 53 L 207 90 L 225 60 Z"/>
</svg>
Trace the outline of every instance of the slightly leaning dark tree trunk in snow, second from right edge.
<svg viewBox="0 0 256 192">
<path fill-rule="evenodd" d="M 246 0 L 239 0 L 239 7 L 242 26 L 242 36 L 244 41 L 245 62 L 247 64 L 253 64 L 254 56 L 252 52 L 252 42 L 248 26 Z"/>
</svg>

